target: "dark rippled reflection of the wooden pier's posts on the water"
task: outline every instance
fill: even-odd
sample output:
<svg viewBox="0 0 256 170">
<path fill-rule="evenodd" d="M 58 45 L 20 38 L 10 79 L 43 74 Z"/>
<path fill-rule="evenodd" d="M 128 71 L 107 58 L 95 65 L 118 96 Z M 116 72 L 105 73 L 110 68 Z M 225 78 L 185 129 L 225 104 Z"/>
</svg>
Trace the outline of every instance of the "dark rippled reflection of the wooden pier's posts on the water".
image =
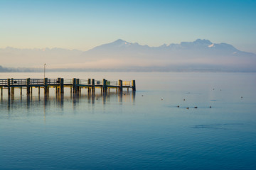
<svg viewBox="0 0 256 170">
<path fill-rule="evenodd" d="M 13 100 L 10 97 L 1 98 L 1 113 L 6 110 L 7 113 L 14 113 L 19 116 L 20 109 L 28 110 L 27 114 L 38 115 L 43 109 L 44 118 L 48 113 L 48 108 L 61 109 L 62 113 L 65 113 L 65 108 L 76 109 L 77 106 L 94 106 L 105 105 L 107 103 L 135 103 L 135 91 L 127 91 L 122 93 L 108 92 L 96 93 L 96 94 L 77 94 L 71 96 L 64 96 L 63 94 L 55 94 L 53 96 L 21 96 L 20 100 Z M 54 113 L 51 111 L 51 113 Z M 11 115 L 10 115 L 11 116 Z"/>
</svg>

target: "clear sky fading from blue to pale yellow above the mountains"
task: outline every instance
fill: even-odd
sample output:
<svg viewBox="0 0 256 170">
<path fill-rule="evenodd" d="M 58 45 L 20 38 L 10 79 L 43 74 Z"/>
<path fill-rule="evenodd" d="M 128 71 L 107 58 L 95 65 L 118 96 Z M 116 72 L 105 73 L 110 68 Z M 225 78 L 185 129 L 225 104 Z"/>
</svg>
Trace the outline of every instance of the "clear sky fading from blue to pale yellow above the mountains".
<svg viewBox="0 0 256 170">
<path fill-rule="evenodd" d="M 256 0 L 0 0 L 0 48 L 226 42 L 256 53 Z"/>
</svg>

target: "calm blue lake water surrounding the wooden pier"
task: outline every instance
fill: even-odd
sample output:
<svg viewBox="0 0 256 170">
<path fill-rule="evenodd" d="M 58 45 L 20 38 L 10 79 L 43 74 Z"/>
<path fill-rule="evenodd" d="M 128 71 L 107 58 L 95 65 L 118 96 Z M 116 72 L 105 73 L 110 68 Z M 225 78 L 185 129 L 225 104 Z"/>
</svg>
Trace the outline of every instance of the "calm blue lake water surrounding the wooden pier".
<svg viewBox="0 0 256 170">
<path fill-rule="evenodd" d="M 16 89 L 11 100 L 4 90 L 0 169 L 256 169 L 255 73 L 46 75 L 136 79 L 137 91 L 27 98 Z M 12 77 L 42 73 L 0 74 Z"/>
</svg>

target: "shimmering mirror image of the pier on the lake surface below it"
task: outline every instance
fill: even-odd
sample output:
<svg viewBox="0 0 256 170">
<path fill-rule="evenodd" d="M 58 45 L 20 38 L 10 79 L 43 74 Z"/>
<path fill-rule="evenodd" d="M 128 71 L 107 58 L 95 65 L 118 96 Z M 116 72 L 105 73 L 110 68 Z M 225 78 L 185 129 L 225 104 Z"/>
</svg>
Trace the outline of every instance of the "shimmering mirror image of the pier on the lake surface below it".
<svg viewBox="0 0 256 170">
<path fill-rule="evenodd" d="M 6 96 L 1 98 L 0 104 L 0 118 L 14 118 L 22 116 L 35 116 L 43 115 L 43 119 L 46 121 L 48 114 L 65 114 L 66 111 L 75 111 L 76 109 L 90 108 L 99 109 L 103 107 L 105 111 L 105 105 L 108 107 L 113 103 L 123 105 L 124 103 L 129 104 L 135 103 L 135 92 L 125 93 L 99 93 L 99 94 L 55 94 L 46 96 Z M 96 107 L 97 106 L 97 107 Z M 7 116 L 8 115 L 8 116 Z"/>
</svg>

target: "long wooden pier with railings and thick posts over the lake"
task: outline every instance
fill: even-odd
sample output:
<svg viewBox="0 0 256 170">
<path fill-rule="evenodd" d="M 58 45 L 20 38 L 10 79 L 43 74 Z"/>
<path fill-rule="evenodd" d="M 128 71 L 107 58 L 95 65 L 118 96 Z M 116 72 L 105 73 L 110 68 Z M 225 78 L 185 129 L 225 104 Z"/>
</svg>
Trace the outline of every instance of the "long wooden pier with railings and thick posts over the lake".
<svg viewBox="0 0 256 170">
<path fill-rule="evenodd" d="M 49 94 L 50 88 L 55 88 L 56 94 L 64 94 L 64 88 L 70 88 L 70 93 L 76 95 L 80 94 L 81 89 L 87 89 L 88 93 L 95 94 L 95 89 L 101 89 L 103 94 L 110 91 L 110 89 L 116 89 L 122 93 L 123 89 L 132 89 L 136 91 L 135 80 L 132 81 L 108 81 L 107 79 L 95 80 L 95 79 L 0 79 L 1 98 L 3 97 L 3 89 L 8 90 L 8 96 L 14 96 L 14 89 L 20 89 L 22 96 L 22 90 L 26 89 L 27 96 L 32 96 L 32 89 L 38 88 L 38 95 L 40 95 L 40 88 L 44 89 L 44 94 Z"/>
</svg>

